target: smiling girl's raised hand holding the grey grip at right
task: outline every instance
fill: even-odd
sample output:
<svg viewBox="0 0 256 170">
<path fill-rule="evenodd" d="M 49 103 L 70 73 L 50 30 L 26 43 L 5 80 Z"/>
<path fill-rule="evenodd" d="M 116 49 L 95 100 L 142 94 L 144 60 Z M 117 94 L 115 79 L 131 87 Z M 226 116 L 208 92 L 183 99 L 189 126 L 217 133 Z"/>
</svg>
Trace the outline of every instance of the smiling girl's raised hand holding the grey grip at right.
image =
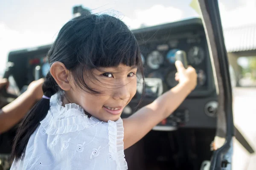
<svg viewBox="0 0 256 170">
<path fill-rule="evenodd" d="M 177 68 L 175 80 L 179 81 L 180 84 L 186 84 L 186 86 L 189 88 L 188 90 L 194 90 L 195 86 L 197 85 L 197 74 L 195 68 L 189 66 L 186 69 L 180 61 L 176 61 L 175 66 Z"/>
</svg>

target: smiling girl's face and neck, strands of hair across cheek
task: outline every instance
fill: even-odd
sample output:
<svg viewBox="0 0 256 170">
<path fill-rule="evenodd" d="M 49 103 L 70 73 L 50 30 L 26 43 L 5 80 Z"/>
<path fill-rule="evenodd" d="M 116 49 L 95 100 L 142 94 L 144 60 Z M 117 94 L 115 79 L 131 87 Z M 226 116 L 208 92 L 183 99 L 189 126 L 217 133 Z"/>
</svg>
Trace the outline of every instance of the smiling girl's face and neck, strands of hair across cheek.
<svg viewBox="0 0 256 170">
<path fill-rule="evenodd" d="M 86 74 L 84 80 L 90 88 L 101 94 L 88 93 L 70 81 L 71 88 L 66 91 L 67 98 L 64 98 L 63 103 L 76 103 L 101 121 L 116 121 L 136 94 L 137 67 L 119 65 L 99 70 L 93 70 L 93 75 Z"/>
</svg>

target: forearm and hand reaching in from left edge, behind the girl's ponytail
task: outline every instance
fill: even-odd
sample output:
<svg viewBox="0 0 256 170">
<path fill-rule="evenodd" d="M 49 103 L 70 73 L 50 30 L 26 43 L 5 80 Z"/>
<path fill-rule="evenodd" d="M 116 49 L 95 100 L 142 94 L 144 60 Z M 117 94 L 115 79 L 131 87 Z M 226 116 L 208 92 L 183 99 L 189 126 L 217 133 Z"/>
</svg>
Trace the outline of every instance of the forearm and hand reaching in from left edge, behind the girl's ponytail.
<svg viewBox="0 0 256 170">
<path fill-rule="evenodd" d="M 39 79 L 30 83 L 27 91 L 2 108 L 0 111 L 0 134 L 16 125 L 35 102 L 41 99 L 43 96 L 43 82 L 44 79 Z"/>
</svg>

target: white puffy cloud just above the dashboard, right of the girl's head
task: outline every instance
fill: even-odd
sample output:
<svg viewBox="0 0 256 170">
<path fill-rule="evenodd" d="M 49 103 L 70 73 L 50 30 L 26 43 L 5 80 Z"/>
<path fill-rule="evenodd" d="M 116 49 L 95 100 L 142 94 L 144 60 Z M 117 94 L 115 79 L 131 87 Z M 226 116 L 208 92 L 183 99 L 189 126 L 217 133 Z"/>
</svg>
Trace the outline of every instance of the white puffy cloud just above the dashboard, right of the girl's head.
<svg viewBox="0 0 256 170">
<path fill-rule="evenodd" d="M 170 23 L 183 18 L 183 11 L 178 8 L 154 5 L 146 10 L 135 10 L 135 17 L 123 17 L 124 21 L 131 29 L 144 26 L 155 26 L 163 23 Z"/>
</svg>

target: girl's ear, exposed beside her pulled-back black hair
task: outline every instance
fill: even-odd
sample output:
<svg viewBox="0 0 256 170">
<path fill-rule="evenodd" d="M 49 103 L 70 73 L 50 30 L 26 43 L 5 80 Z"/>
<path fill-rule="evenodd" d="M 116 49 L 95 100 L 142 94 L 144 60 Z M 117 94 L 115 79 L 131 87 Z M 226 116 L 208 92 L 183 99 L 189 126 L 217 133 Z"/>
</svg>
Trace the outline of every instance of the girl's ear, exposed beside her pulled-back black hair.
<svg viewBox="0 0 256 170">
<path fill-rule="evenodd" d="M 54 62 L 50 68 L 50 73 L 62 90 L 70 90 L 71 85 L 68 80 L 68 70 L 62 62 Z"/>
</svg>

